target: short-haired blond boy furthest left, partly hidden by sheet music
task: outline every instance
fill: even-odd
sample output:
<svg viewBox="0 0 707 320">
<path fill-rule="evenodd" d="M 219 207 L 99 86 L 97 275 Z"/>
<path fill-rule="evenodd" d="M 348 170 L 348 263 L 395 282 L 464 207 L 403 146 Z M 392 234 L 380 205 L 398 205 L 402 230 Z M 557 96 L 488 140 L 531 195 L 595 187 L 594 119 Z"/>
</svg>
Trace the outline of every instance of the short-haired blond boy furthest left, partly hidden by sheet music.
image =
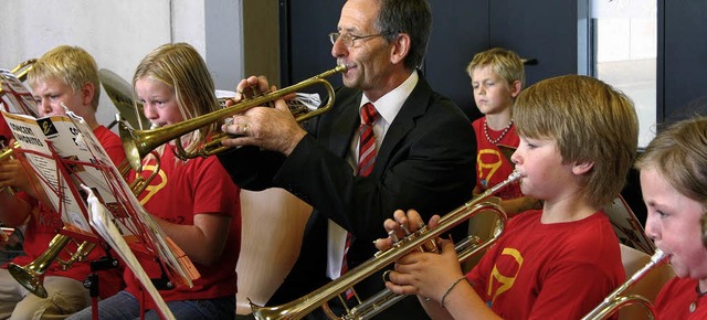
<svg viewBox="0 0 707 320">
<path fill-rule="evenodd" d="M 106 127 L 98 125 L 96 108 L 101 83 L 93 56 L 77 46 L 60 45 L 40 57 L 28 73 L 28 81 L 42 117 L 64 115 L 62 103 L 84 118 L 93 129 L 114 164 L 125 160 L 120 138 Z M 20 192 L 0 192 L 0 221 L 8 226 L 24 227 L 24 256 L 11 263 L 24 266 L 48 250 L 50 242 L 63 227 L 60 213 L 45 205 L 46 199 L 35 177 L 28 174 L 21 157 L 0 161 L 0 188 L 13 186 Z M 39 192 L 39 193 L 38 193 Z M 70 242 L 57 259 L 68 260 L 77 244 Z M 34 317 L 66 317 L 91 306 L 91 295 L 83 281 L 91 274 L 89 262 L 99 259 L 105 253 L 96 247 L 84 262 L 76 262 L 66 270 L 55 259 L 44 273 L 43 286 L 49 297 L 42 299 L 29 294 L 3 266 L 0 269 L 0 319 Z M 102 297 L 117 292 L 123 286 L 119 269 L 98 273 Z"/>
</svg>

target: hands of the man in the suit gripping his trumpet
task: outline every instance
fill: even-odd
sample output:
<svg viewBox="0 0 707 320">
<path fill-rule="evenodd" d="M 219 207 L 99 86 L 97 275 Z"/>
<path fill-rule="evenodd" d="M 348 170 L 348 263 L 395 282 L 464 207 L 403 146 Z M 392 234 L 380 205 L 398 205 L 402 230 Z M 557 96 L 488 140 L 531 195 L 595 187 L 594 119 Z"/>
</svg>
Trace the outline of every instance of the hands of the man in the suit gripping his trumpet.
<svg viewBox="0 0 707 320">
<path fill-rule="evenodd" d="M 226 107 L 243 100 L 275 90 L 264 76 L 251 76 L 242 79 L 236 86 L 236 96 L 226 102 Z M 294 94 L 293 94 L 294 97 Z M 285 99 L 274 102 L 274 108 L 254 107 L 232 117 L 230 124 L 221 128 L 233 138 L 224 139 L 223 146 L 257 146 L 265 150 L 277 151 L 289 156 L 297 143 L 307 134 L 295 120 Z"/>
</svg>

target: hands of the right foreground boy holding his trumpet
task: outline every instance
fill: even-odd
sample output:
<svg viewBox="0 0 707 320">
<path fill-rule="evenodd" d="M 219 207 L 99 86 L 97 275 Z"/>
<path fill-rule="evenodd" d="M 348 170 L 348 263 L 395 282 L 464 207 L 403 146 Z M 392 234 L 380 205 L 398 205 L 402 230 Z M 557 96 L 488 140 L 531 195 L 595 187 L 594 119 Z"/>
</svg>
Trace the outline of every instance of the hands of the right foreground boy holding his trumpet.
<svg viewBox="0 0 707 320">
<path fill-rule="evenodd" d="M 432 216 L 429 227 L 435 227 L 439 221 L 439 215 Z M 393 218 L 387 220 L 383 225 L 391 236 L 376 241 L 379 250 L 390 249 L 395 238 L 405 236 L 405 228 L 413 233 L 423 225 L 423 221 L 414 210 L 407 213 L 398 210 L 393 213 Z M 413 252 L 398 259 L 394 270 L 388 273 L 386 287 L 399 295 L 418 295 L 423 306 L 432 300 L 441 303 L 447 288 L 464 275 L 452 241 L 437 238 L 436 242 L 442 250 L 440 254 Z M 466 285 L 464 290 L 473 289 Z"/>
</svg>

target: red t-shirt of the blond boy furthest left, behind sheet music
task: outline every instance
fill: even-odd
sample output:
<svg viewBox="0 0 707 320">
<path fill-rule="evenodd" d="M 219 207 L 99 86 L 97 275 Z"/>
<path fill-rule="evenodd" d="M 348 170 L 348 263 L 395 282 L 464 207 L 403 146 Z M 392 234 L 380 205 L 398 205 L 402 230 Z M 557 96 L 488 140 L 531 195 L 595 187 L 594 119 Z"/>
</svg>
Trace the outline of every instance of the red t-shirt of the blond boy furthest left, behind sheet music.
<svg viewBox="0 0 707 320">
<path fill-rule="evenodd" d="M 115 135 L 104 126 L 96 128 L 94 130 L 94 135 L 98 139 L 98 142 L 104 146 L 106 152 L 108 153 L 108 157 L 110 157 L 110 160 L 113 160 L 114 163 L 119 163 L 120 161 L 125 160 L 123 142 L 117 135 Z M 46 252 L 46 249 L 49 248 L 49 243 L 62 230 L 64 224 L 59 213 L 39 203 L 39 201 L 31 198 L 25 192 L 18 192 L 17 196 L 34 205 L 34 209 L 38 211 L 36 215 L 30 215 L 30 220 L 28 221 L 27 228 L 24 231 L 24 242 L 22 245 L 25 255 L 18 256 L 12 259 L 12 263 L 24 266 Z M 64 262 L 68 260 L 68 258 L 71 257 L 71 253 L 76 252 L 76 247 L 77 243 L 73 241 L 70 242 L 65 247 L 66 249 L 62 250 L 59 254 L 57 259 Z M 99 259 L 104 256 L 105 252 L 99 247 L 95 247 L 84 263 L 74 263 L 67 270 L 63 270 L 59 262 L 54 259 L 50 267 L 46 269 L 45 275 L 62 276 L 83 281 L 91 274 L 89 262 Z M 7 265 L 3 267 L 7 267 Z M 123 289 L 124 284 L 120 277 L 122 273 L 122 268 L 103 270 L 98 273 L 98 288 L 101 290 L 101 297 L 110 297 Z"/>
</svg>

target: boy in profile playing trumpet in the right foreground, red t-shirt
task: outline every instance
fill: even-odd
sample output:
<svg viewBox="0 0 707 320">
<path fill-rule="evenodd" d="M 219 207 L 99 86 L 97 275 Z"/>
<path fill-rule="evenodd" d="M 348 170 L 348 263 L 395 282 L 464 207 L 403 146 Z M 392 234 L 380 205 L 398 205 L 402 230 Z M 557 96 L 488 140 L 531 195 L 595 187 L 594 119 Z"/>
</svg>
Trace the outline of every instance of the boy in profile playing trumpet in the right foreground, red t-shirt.
<svg viewBox="0 0 707 320">
<path fill-rule="evenodd" d="M 568 75 L 524 90 L 513 154 L 524 194 L 542 200 L 509 220 L 479 264 L 463 275 L 454 245 L 411 253 L 386 286 L 418 295 L 434 319 L 579 319 L 625 278 L 619 239 L 602 207 L 624 185 L 639 140 L 633 103 L 599 79 Z M 420 215 L 394 212 L 388 231 L 416 230 Z M 439 216 L 430 221 L 435 227 Z M 400 232 L 399 232 L 400 233 Z M 400 234 L 402 236 L 402 234 Z M 379 239 L 379 249 L 392 239 Z"/>
</svg>

